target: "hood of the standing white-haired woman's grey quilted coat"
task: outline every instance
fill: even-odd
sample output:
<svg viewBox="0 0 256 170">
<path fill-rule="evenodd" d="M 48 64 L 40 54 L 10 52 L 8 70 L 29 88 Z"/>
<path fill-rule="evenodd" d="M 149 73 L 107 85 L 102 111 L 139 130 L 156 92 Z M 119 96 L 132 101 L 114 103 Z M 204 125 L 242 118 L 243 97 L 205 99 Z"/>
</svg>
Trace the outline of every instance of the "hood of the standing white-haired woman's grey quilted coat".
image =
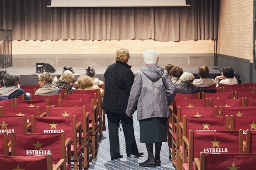
<svg viewBox="0 0 256 170">
<path fill-rule="evenodd" d="M 140 71 L 142 71 L 152 82 L 157 82 L 164 74 L 164 69 L 155 64 L 147 65 L 141 68 Z"/>
</svg>

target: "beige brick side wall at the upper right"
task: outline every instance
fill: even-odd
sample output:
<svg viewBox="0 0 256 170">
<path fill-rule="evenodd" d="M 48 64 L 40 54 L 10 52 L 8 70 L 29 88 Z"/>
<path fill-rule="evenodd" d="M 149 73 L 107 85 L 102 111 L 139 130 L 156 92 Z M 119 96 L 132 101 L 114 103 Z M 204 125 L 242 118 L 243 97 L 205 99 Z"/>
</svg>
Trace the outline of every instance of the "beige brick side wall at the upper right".
<svg viewBox="0 0 256 170">
<path fill-rule="evenodd" d="M 221 0 L 218 54 L 253 62 L 253 0 Z"/>
</svg>

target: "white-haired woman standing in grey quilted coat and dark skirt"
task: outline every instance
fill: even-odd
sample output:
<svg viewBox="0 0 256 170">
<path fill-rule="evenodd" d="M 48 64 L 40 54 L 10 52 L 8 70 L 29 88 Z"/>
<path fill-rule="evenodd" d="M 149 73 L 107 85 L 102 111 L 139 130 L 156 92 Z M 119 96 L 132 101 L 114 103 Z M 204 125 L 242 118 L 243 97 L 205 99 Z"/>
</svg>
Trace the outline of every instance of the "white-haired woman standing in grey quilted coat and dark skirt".
<svg viewBox="0 0 256 170">
<path fill-rule="evenodd" d="M 169 105 L 175 98 L 176 88 L 168 72 L 157 66 L 159 59 L 157 51 L 147 50 L 143 58 L 146 66 L 135 75 L 126 114 L 132 116 L 137 109 L 140 142 L 145 143 L 147 147 L 148 159 L 139 165 L 156 167 L 161 165 L 162 142 L 167 142 Z M 155 144 L 155 155 L 153 144 Z"/>
</svg>

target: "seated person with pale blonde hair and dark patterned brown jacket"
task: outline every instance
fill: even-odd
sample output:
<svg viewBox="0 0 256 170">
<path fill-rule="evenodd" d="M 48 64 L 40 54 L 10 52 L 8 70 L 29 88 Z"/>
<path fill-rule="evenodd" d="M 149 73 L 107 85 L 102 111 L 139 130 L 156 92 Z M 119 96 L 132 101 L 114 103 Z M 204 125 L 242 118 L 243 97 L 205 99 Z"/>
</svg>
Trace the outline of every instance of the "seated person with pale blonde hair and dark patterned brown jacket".
<svg viewBox="0 0 256 170">
<path fill-rule="evenodd" d="M 53 82 L 52 85 L 56 86 L 59 89 L 67 89 L 67 94 L 71 94 L 71 85 L 70 83 L 73 82 L 74 74 L 66 70 L 59 78 L 58 82 Z"/>
</svg>

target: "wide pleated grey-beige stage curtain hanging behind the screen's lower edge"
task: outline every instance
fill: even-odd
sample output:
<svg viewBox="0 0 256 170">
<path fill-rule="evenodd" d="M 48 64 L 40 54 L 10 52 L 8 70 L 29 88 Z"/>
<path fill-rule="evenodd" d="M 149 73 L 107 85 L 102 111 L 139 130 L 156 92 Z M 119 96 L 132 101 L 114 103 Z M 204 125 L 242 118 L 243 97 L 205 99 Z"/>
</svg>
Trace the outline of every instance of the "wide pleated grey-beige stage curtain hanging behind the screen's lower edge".
<svg viewBox="0 0 256 170">
<path fill-rule="evenodd" d="M 47 0 L 0 0 L 0 29 L 13 40 L 216 39 L 219 0 L 190 7 L 47 8 Z"/>
</svg>

